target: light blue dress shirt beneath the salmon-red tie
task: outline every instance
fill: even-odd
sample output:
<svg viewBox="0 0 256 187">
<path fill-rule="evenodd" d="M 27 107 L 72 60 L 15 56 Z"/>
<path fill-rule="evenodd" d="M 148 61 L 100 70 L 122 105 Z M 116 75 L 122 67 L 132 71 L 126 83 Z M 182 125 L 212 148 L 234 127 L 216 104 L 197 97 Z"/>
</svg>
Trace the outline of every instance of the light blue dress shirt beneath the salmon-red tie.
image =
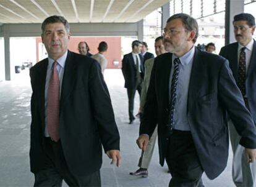
<svg viewBox="0 0 256 187">
<path fill-rule="evenodd" d="M 61 58 L 56 60 L 58 62 L 57 71 L 59 73 L 59 98 L 61 98 L 61 86 L 62 79 L 64 75 L 64 67 L 67 60 L 67 51 Z M 49 137 L 48 128 L 47 128 L 47 108 L 48 108 L 48 87 L 49 87 L 49 79 L 51 78 L 51 73 L 53 71 L 53 63 L 55 60 L 48 57 L 48 66 L 46 72 L 46 80 L 45 80 L 45 137 Z"/>
</svg>

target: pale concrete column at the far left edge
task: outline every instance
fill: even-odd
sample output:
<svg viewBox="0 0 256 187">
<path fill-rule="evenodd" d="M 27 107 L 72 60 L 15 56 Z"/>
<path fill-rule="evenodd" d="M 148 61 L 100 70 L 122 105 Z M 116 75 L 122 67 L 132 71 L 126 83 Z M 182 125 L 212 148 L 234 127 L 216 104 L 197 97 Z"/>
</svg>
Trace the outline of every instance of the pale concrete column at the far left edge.
<svg viewBox="0 0 256 187">
<path fill-rule="evenodd" d="M 6 30 L 4 31 L 4 65 L 6 81 L 11 81 L 10 36 Z"/>
</svg>

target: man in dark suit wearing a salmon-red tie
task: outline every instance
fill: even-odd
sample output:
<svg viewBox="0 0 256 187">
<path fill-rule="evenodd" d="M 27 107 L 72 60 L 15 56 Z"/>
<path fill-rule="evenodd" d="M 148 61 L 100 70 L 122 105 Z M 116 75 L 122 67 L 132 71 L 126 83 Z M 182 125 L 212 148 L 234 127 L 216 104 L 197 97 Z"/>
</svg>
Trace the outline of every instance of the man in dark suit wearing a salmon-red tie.
<svg viewBox="0 0 256 187">
<path fill-rule="evenodd" d="M 119 133 L 108 88 L 93 58 L 67 50 L 69 23 L 41 25 L 48 58 L 30 69 L 30 168 L 34 186 L 101 186 L 102 148 L 119 167 Z"/>
</svg>

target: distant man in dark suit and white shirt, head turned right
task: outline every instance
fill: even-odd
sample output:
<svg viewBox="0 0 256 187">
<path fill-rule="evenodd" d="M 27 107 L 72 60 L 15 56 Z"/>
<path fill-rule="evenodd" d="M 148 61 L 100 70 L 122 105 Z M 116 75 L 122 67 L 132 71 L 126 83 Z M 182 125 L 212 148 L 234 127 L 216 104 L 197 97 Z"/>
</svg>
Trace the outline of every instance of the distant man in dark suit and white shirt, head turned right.
<svg viewBox="0 0 256 187">
<path fill-rule="evenodd" d="M 132 42 L 132 52 L 124 55 L 122 59 L 122 74 L 124 75 L 124 87 L 127 89 L 127 95 L 129 100 L 129 124 L 132 124 L 135 120 L 134 117 L 134 97 L 136 90 L 139 95 L 142 91 L 143 81 L 143 59 L 140 54 L 142 48 L 142 42 L 135 40 Z"/>
</svg>

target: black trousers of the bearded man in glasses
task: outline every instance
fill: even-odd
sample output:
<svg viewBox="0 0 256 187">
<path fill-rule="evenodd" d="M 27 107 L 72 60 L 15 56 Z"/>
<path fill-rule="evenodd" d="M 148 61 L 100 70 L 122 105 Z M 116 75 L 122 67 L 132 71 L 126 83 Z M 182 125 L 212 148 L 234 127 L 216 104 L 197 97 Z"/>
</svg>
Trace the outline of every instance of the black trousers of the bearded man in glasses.
<svg viewBox="0 0 256 187">
<path fill-rule="evenodd" d="M 190 131 L 173 130 L 166 162 L 172 176 L 169 187 L 203 186 L 203 169 Z"/>
</svg>

